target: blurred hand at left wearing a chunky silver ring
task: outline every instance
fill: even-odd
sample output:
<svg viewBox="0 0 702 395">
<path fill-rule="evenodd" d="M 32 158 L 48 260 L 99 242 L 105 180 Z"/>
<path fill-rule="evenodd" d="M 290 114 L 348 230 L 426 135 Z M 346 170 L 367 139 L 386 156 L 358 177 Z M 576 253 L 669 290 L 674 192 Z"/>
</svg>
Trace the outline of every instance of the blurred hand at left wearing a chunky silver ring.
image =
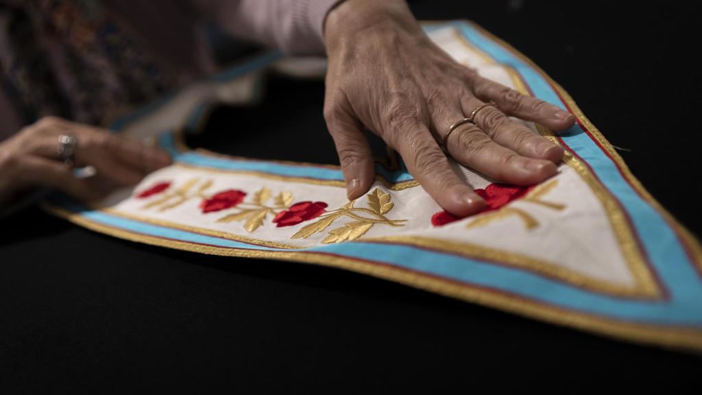
<svg viewBox="0 0 702 395">
<path fill-rule="evenodd" d="M 58 159 L 58 137 L 74 135 L 74 164 L 92 166 L 96 177 L 78 179 Z M 95 200 L 112 186 L 131 186 L 171 163 L 164 150 L 114 136 L 108 131 L 46 117 L 0 143 L 0 204 L 32 186 L 50 186 L 78 198 Z"/>
</svg>

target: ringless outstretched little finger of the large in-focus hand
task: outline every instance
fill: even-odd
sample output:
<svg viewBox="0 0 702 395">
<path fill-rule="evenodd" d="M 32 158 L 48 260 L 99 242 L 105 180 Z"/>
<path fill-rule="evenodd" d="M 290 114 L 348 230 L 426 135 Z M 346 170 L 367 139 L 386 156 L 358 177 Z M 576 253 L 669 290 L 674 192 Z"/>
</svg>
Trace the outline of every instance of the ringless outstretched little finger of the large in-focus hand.
<svg viewBox="0 0 702 395">
<path fill-rule="evenodd" d="M 482 101 L 494 101 L 505 114 L 542 124 L 552 131 L 564 131 L 575 124 L 566 110 L 484 77 L 475 77 L 473 92 Z"/>
</svg>

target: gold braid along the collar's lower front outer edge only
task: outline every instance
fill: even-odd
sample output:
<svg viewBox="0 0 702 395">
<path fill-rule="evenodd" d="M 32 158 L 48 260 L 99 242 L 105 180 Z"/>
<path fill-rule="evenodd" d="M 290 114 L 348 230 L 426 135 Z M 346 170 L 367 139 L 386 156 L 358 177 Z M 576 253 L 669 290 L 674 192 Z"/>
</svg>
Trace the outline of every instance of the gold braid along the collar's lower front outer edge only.
<svg viewBox="0 0 702 395">
<path fill-rule="evenodd" d="M 477 303 L 483 306 L 501 309 L 502 311 L 519 314 L 520 316 L 545 320 L 546 322 L 556 325 L 564 325 L 571 328 L 578 328 L 580 330 L 590 330 L 593 332 L 598 332 L 602 335 L 632 342 L 658 344 L 665 347 L 683 350 L 687 349 L 702 351 L 702 331 L 700 330 L 680 328 L 672 325 L 665 326 L 646 323 L 630 323 L 623 320 L 616 320 L 614 318 L 594 316 L 589 313 L 580 313 L 574 310 L 559 309 L 558 307 L 550 306 L 548 304 L 542 304 L 529 299 L 522 299 L 514 294 L 493 292 L 489 289 L 473 287 L 466 283 L 446 281 L 443 278 L 418 276 L 417 273 L 404 268 L 399 268 L 392 265 L 378 265 L 372 261 L 364 261 L 361 259 L 330 256 L 328 254 L 318 254 L 315 252 L 247 250 L 241 248 L 199 245 L 192 242 L 183 242 L 178 240 L 168 240 L 151 235 L 135 233 L 132 231 L 125 231 L 123 229 L 113 228 L 112 226 L 106 226 L 96 221 L 92 221 L 91 219 L 84 218 L 84 216 L 81 216 L 81 214 L 74 214 L 46 202 L 42 204 L 42 207 L 46 209 L 46 211 L 65 218 L 74 224 L 124 240 L 143 242 L 149 245 L 168 247 L 176 250 L 198 252 L 200 254 L 277 259 L 343 268 L 348 271 L 395 281 L 397 283 L 416 287 L 428 292 L 435 292 L 446 297 L 461 299 L 465 302 Z M 420 239 L 416 241 L 425 242 L 426 240 L 429 239 Z M 434 247 L 434 245 L 428 245 L 427 247 Z"/>
</svg>

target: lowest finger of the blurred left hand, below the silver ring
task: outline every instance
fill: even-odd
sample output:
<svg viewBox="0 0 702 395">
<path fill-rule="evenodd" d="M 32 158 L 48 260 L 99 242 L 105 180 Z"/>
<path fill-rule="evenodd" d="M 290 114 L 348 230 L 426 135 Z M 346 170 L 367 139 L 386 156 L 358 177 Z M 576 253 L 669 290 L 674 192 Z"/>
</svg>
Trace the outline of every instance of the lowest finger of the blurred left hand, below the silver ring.
<svg viewBox="0 0 702 395">
<path fill-rule="evenodd" d="M 102 190 L 86 179 L 77 179 L 72 169 L 60 162 L 25 155 L 19 159 L 18 168 L 21 172 L 16 182 L 20 185 L 52 186 L 79 200 L 97 200 L 102 197 Z"/>
</svg>

